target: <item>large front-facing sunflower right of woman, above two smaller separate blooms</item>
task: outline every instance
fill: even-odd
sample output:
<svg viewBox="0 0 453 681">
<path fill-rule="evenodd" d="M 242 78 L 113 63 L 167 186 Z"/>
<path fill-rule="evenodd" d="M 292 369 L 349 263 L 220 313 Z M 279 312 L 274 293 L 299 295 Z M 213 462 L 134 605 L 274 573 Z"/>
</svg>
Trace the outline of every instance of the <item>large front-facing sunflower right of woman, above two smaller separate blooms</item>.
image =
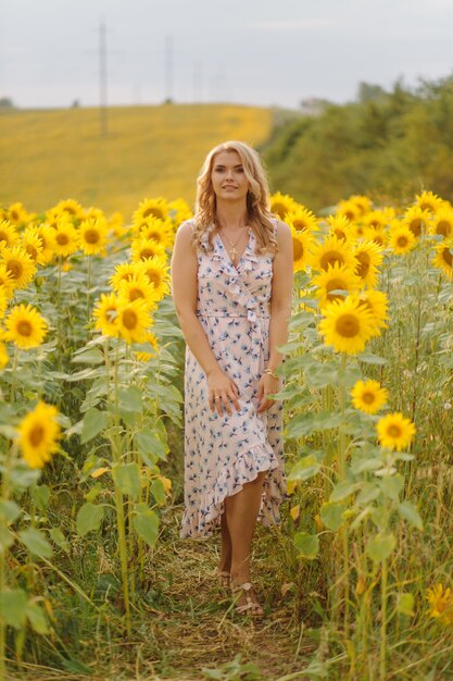
<svg viewBox="0 0 453 681">
<path fill-rule="evenodd" d="M 365 349 L 373 336 L 374 323 L 369 310 L 363 306 L 356 295 L 344 300 L 334 300 L 323 309 L 319 332 L 326 345 L 334 346 L 337 352 L 355 355 Z"/>
</svg>

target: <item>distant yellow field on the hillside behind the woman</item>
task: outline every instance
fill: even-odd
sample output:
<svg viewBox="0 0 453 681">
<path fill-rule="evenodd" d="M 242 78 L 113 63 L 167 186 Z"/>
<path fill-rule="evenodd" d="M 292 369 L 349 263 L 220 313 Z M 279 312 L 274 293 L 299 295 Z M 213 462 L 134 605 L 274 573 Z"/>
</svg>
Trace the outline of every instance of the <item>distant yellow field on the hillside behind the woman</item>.
<svg viewBox="0 0 453 681">
<path fill-rule="evenodd" d="M 12 111 L 0 115 L 0 201 L 45 210 L 72 197 L 127 216 L 146 196 L 194 198 L 205 153 L 226 139 L 264 141 L 267 109 L 226 104 Z"/>
</svg>

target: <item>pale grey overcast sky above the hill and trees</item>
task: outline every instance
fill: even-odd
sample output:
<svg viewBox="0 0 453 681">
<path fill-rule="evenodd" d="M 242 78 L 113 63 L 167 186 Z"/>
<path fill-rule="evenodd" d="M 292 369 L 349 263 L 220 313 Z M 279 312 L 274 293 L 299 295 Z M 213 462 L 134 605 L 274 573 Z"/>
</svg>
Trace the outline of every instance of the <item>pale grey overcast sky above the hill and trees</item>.
<svg viewBox="0 0 453 681">
<path fill-rule="evenodd" d="M 2 0 L 0 97 L 98 104 L 103 21 L 111 104 L 295 108 L 453 72 L 453 0 Z"/>
</svg>

